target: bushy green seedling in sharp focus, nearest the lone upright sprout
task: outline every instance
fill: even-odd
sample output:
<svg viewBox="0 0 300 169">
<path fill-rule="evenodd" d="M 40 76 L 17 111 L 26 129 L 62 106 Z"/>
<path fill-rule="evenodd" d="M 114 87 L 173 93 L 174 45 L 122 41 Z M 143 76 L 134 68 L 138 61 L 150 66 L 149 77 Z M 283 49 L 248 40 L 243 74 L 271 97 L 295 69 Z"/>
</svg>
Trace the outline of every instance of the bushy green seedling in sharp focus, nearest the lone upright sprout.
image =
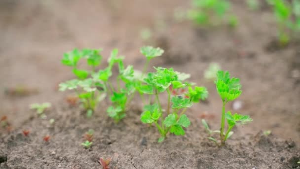
<svg viewBox="0 0 300 169">
<path fill-rule="evenodd" d="M 144 112 L 141 114 L 143 123 L 155 124 L 161 137 L 158 142 L 162 142 L 167 134 L 184 135 L 183 127 L 189 127 L 190 121 L 185 114 L 186 110 L 192 106 L 193 102 L 204 100 L 208 96 L 208 92 L 204 87 L 191 87 L 191 83 L 184 82 L 189 78 L 187 74 L 175 72 L 173 68 L 167 69 L 155 68 L 155 73 L 148 73 L 141 85 L 140 91 L 149 94 L 149 104 L 144 106 Z M 188 88 L 188 92 L 184 95 L 172 95 L 172 90 L 184 90 Z M 167 108 L 164 110 L 160 101 L 160 93 L 167 93 Z M 151 104 L 152 98 L 154 104 Z"/>
</svg>

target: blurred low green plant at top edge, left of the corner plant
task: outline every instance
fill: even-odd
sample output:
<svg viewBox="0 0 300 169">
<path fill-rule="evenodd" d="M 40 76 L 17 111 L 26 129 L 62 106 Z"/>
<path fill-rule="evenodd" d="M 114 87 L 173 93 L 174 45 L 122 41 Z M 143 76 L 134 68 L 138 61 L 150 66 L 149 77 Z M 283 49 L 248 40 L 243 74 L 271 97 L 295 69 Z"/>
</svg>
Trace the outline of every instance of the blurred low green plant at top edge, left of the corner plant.
<svg viewBox="0 0 300 169">
<path fill-rule="evenodd" d="M 235 27 L 237 17 L 230 14 L 229 0 L 192 0 L 192 9 L 188 11 L 188 18 L 200 25 L 214 25 L 226 21 Z"/>
</svg>

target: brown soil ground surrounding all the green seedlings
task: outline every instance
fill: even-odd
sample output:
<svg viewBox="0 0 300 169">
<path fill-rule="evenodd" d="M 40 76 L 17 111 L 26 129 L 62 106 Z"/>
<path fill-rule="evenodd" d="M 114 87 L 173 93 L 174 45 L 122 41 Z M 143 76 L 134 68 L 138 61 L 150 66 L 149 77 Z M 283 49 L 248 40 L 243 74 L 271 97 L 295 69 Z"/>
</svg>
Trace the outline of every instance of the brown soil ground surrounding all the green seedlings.
<svg viewBox="0 0 300 169">
<path fill-rule="evenodd" d="M 188 6 L 182 0 L 1 0 L 0 117 L 6 115 L 11 128 L 0 130 L 0 169 L 100 169 L 100 157 L 112 157 L 111 169 L 299 169 L 299 43 L 285 48 L 273 43 L 276 23 L 265 5 L 253 12 L 233 0 L 239 18 L 235 29 L 174 21 L 174 9 Z M 147 42 L 139 36 L 144 27 L 154 30 Z M 118 48 L 127 64 L 142 69 L 139 48 L 145 44 L 165 50 L 151 66 L 190 73 L 191 81 L 210 93 L 206 102 L 187 111 L 191 126 L 186 135 L 169 135 L 160 144 L 157 129 L 140 122 L 138 99 L 115 124 L 105 112 L 108 101 L 87 119 L 79 106 L 65 101 L 71 92 L 57 91 L 60 82 L 74 78 L 60 63 L 64 52 L 103 48 L 106 59 Z M 201 125 L 205 118 L 212 129 L 220 127 L 221 100 L 213 82 L 203 77 L 211 62 L 241 79 L 242 106 L 236 111 L 253 118 L 235 127 L 221 148 L 207 139 Z M 4 92 L 17 86 L 28 92 Z M 52 103 L 46 119 L 29 110 L 35 102 Z M 80 144 L 88 129 L 95 130 L 93 145 L 84 149 Z M 266 136 L 266 130 L 272 133 Z"/>
</svg>

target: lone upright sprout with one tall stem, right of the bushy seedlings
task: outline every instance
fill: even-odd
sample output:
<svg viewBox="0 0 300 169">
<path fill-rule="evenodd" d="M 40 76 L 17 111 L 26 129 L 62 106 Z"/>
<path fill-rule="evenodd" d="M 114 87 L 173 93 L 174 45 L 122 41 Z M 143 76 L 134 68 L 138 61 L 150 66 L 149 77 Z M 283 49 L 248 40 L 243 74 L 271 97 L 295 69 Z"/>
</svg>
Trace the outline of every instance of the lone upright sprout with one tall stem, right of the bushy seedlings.
<svg viewBox="0 0 300 169">
<path fill-rule="evenodd" d="M 242 93 L 241 90 L 242 86 L 239 81 L 240 80 L 238 78 L 230 78 L 230 74 L 227 71 L 217 72 L 217 80 L 215 81 L 215 84 L 216 84 L 217 92 L 222 99 L 222 116 L 221 116 L 220 131 L 213 131 L 213 132 L 220 133 L 220 142 L 221 142 L 220 146 L 223 146 L 225 144 L 225 141 L 233 134 L 231 130 L 235 125 L 246 124 L 252 121 L 252 119 L 247 115 L 240 115 L 237 113 L 231 114 L 230 111 L 225 113 L 225 105 L 229 101 L 233 101 L 236 98 L 238 98 Z M 227 131 L 225 131 L 225 119 L 227 119 L 227 123 L 228 123 Z M 205 123 L 203 124 L 206 130 L 208 130 L 207 129 L 208 125 L 205 125 Z M 217 140 L 214 137 L 209 137 L 209 139 L 214 141 L 216 144 L 218 144 Z"/>
</svg>

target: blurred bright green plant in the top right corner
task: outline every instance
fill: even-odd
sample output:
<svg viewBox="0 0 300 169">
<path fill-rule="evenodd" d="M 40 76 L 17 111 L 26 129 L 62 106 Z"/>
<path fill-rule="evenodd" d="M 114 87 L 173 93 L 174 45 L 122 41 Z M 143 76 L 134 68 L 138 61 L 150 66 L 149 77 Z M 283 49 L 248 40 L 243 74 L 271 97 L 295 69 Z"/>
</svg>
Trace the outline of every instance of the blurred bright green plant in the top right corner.
<svg viewBox="0 0 300 169">
<path fill-rule="evenodd" d="M 277 22 L 277 39 L 281 47 L 286 46 L 291 37 L 297 37 L 300 32 L 300 1 L 267 0 L 273 6 Z"/>
</svg>

